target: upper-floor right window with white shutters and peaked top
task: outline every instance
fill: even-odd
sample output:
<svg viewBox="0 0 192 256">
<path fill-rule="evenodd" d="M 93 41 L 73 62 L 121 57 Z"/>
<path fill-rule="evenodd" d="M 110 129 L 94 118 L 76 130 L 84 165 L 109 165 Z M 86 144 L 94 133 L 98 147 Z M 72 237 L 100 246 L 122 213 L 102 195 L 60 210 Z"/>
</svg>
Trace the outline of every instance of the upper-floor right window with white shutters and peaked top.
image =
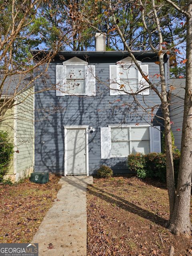
<svg viewBox="0 0 192 256">
<path fill-rule="evenodd" d="M 138 61 L 144 74 L 148 75 L 148 64 L 142 64 Z M 132 58 L 127 57 L 118 61 L 116 65 L 110 65 L 110 95 L 137 93 L 148 95 L 148 83 L 140 74 Z M 140 90 L 142 90 L 140 92 Z"/>
</svg>

